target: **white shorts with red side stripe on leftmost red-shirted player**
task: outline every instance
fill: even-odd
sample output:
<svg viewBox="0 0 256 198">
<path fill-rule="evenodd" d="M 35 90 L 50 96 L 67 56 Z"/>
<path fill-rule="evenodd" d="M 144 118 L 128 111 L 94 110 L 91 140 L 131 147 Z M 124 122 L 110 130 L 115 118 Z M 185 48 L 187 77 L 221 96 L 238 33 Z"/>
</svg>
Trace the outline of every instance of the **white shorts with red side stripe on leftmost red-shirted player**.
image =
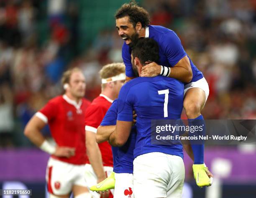
<svg viewBox="0 0 256 198">
<path fill-rule="evenodd" d="M 66 195 L 74 185 L 87 187 L 84 180 L 84 165 L 74 165 L 49 158 L 46 169 L 48 192 L 54 195 Z"/>
</svg>

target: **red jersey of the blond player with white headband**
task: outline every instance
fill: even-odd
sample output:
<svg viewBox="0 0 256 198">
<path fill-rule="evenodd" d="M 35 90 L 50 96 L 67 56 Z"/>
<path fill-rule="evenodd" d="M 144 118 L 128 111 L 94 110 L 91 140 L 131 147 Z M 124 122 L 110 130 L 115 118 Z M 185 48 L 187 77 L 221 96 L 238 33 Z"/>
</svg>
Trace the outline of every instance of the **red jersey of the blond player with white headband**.
<svg viewBox="0 0 256 198">
<path fill-rule="evenodd" d="M 96 133 L 97 128 L 100 126 L 102 119 L 107 113 L 113 100 L 107 96 L 100 94 L 92 101 L 92 104 L 87 108 L 85 112 L 85 130 Z M 113 155 L 111 146 L 108 142 L 102 142 L 99 144 L 103 166 L 113 167 Z M 87 161 L 90 164 L 89 159 Z"/>
</svg>

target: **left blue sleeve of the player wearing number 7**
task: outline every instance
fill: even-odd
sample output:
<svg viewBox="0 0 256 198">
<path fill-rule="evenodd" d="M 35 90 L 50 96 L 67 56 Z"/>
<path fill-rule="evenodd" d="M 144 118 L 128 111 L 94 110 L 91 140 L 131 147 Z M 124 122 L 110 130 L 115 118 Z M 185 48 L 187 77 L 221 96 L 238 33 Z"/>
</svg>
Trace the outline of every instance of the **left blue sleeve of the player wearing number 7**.
<svg viewBox="0 0 256 198">
<path fill-rule="evenodd" d="M 118 118 L 119 121 L 133 121 L 133 94 L 129 83 L 123 85 L 118 96 Z"/>
</svg>

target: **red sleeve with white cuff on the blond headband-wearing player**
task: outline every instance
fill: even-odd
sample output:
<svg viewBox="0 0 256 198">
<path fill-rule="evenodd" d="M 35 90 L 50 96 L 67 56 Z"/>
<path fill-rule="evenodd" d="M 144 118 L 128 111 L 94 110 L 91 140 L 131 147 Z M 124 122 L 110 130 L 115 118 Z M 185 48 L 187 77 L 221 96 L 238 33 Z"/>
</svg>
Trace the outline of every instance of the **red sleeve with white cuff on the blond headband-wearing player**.
<svg viewBox="0 0 256 198">
<path fill-rule="evenodd" d="M 105 108 L 98 105 L 90 105 L 85 112 L 85 130 L 96 133 L 105 113 Z"/>
</svg>

